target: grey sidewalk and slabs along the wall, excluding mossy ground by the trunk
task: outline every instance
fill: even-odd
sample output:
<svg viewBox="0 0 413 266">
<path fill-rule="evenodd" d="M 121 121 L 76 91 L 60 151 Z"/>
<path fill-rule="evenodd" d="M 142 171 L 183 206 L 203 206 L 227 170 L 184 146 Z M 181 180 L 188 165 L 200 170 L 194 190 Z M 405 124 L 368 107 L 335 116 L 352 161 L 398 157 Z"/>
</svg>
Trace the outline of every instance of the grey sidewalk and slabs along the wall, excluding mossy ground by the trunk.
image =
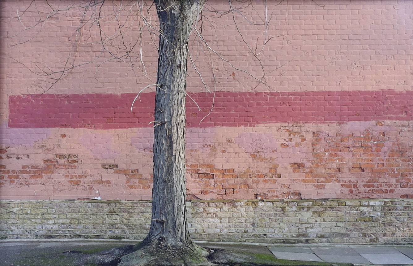
<svg viewBox="0 0 413 266">
<path fill-rule="evenodd" d="M 56 254 L 70 250 L 93 252 L 135 244 L 138 240 L 0 240 L 0 266 L 67 266 Z M 324 261 L 354 265 L 413 266 L 413 245 L 255 244 L 197 241 L 201 246 L 271 253 L 277 259 Z M 67 253 L 66 253 L 67 254 Z M 70 253 L 72 254 L 72 253 Z M 75 255 L 75 254 L 74 254 Z M 43 259 L 46 258 L 47 263 Z M 63 264 L 62 264 L 63 263 Z M 302 264 L 300 264 L 302 265 Z M 307 264 L 305 264 L 307 265 Z"/>
</svg>

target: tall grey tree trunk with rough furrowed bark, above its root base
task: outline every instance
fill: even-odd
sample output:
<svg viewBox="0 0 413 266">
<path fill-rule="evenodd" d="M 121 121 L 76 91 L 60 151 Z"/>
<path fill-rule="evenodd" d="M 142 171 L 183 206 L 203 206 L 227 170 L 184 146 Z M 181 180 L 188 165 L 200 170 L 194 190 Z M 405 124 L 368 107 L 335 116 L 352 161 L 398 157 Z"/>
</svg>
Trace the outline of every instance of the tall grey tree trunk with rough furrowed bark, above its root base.
<svg viewBox="0 0 413 266">
<path fill-rule="evenodd" d="M 159 59 L 155 98 L 152 221 L 146 243 L 192 246 L 185 185 L 185 98 L 188 40 L 202 9 L 197 0 L 155 0 Z"/>
</svg>

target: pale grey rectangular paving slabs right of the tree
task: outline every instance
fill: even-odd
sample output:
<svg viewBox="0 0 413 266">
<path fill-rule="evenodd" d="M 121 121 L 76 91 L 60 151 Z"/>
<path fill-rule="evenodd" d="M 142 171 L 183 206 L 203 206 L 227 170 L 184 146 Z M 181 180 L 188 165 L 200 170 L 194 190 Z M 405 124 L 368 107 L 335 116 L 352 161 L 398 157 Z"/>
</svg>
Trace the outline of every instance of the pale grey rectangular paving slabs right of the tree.
<svg viewBox="0 0 413 266">
<path fill-rule="evenodd" d="M 269 246 L 278 259 L 347 262 L 370 265 L 413 265 L 413 246 L 291 245 Z"/>
</svg>

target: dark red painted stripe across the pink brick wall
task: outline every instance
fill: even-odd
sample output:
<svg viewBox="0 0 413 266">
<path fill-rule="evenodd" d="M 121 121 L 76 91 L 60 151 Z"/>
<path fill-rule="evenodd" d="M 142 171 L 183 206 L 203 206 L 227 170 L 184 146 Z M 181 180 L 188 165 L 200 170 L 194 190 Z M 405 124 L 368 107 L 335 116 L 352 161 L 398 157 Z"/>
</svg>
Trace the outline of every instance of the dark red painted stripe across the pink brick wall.
<svg viewBox="0 0 413 266">
<path fill-rule="evenodd" d="M 148 127 L 154 93 L 43 94 L 9 97 L 9 127 L 114 129 Z M 190 93 L 188 127 L 243 127 L 271 122 L 412 120 L 413 91 Z M 214 99 L 214 108 L 211 110 Z M 199 122 L 207 116 L 201 124 Z"/>
</svg>

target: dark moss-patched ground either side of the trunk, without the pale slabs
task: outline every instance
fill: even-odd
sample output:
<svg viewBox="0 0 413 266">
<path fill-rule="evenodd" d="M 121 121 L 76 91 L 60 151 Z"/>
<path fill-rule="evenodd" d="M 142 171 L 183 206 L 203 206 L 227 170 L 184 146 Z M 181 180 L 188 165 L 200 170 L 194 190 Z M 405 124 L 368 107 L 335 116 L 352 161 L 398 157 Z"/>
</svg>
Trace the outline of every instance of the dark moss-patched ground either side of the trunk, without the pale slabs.
<svg viewBox="0 0 413 266">
<path fill-rule="evenodd" d="M 0 266 L 116 266 L 133 251 L 132 241 L 0 241 Z M 201 243 L 208 260 L 227 266 L 353 266 L 277 259 L 266 246 Z"/>
</svg>

